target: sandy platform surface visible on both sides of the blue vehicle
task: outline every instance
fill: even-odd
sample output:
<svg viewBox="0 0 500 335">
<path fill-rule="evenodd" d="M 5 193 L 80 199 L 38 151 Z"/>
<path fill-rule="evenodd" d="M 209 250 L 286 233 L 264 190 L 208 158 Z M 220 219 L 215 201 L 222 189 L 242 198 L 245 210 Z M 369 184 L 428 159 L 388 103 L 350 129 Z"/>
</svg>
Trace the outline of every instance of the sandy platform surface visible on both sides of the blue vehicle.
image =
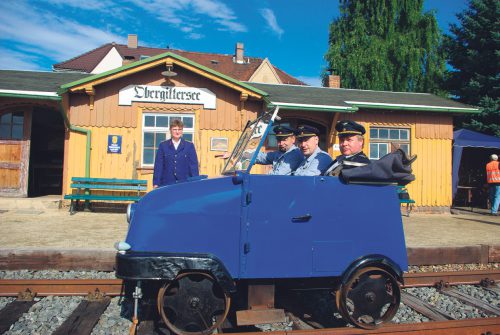
<svg viewBox="0 0 500 335">
<path fill-rule="evenodd" d="M 407 247 L 500 245 L 500 217 L 483 214 L 412 214 L 403 217 Z M 125 214 L 67 210 L 0 211 L 0 246 L 113 250 L 127 233 Z"/>
</svg>

